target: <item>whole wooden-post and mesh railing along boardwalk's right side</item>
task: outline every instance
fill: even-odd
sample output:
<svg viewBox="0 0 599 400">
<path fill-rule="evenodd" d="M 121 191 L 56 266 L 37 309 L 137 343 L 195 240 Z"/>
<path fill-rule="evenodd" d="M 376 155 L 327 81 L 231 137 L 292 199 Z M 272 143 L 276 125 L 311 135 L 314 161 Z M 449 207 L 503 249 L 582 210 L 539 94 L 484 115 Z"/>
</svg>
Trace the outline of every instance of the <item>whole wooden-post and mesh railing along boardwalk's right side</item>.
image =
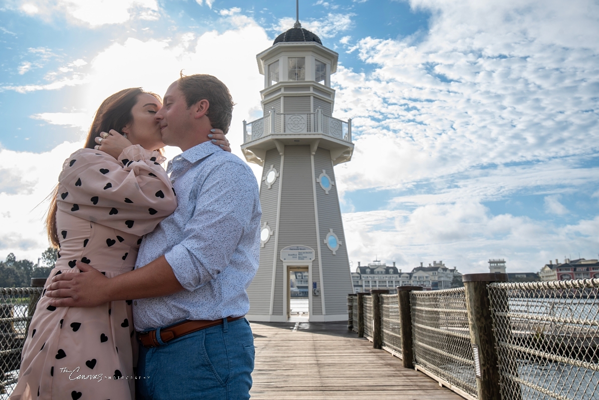
<svg viewBox="0 0 599 400">
<path fill-rule="evenodd" d="M 599 279 L 506 280 L 470 274 L 456 289 L 350 295 L 348 326 L 361 321 L 375 348 L 379 335 L 404 366 L 467 399 L 599 400 Z"/>
</svg>

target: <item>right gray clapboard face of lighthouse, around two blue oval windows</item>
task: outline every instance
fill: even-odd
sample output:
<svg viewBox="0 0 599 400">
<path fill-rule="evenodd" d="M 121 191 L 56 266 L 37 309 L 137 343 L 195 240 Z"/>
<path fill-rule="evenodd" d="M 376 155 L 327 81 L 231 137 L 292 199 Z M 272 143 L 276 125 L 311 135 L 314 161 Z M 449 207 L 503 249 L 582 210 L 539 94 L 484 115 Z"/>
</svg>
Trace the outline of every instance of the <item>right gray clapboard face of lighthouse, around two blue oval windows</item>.
<svg viewBox="0 0 599 400">
<path fill-rule="evenodd" d="M 341 221 L 341 209 L 337 195 L 337 180 L 332 168 L 331 153 L 319 148 L 314 154 L 314 180 L 322 174 L 322 170 L 335 183 L 327 195 L 316 183 L 316 201 L 318 203 L 318 223 L 320 231 L 320 249 L 322 251 L 323 293 L 325 295 L 326 314 L 343 314 L 347 312 L 347 293 L 353 293 L 353 285 L 347 256 L 347 243 Z M 341 241 L 341 246 L 335 255 L 323 243 L 326 235 L 332 229 Z"/>
</svg>

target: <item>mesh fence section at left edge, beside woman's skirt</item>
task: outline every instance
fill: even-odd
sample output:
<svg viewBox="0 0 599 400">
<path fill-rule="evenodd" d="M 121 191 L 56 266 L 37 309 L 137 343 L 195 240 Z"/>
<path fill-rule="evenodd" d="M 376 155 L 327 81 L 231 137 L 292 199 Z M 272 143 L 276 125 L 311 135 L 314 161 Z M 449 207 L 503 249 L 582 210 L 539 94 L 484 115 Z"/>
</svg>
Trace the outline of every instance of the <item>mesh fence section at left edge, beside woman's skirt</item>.
<svg viewBox="0 0 599 400">
<path fill-rule="evenodd" d="M 43 287 L 0 288 L 0 399 L 17 383 L 21 352 Z"/>
</svg>

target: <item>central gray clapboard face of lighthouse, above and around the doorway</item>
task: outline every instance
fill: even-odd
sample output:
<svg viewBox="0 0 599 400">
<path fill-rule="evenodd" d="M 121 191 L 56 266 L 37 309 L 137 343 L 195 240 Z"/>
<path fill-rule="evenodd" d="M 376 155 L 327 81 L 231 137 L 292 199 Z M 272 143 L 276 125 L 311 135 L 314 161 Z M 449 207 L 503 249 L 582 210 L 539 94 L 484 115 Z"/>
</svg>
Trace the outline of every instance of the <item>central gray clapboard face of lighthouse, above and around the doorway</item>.
<svg viewBox="0 0 599 400">
<path fill-rule="evenodd" d="M 320 287 L 311 175 L 310 146 L 285 146 L 279 249 L 277 251 L 280 253 L 283 247 L 294 245 L 308 246 L 314 249 L 316 259 L 312 262 L 312 281 L 317 282 Z M 283 298 L 283 285 L 289 283 L 283 282 L 283 262 L 280 258 L 278 260 L 275 289 L 277 301 L 274 304 L 273 314 L 282 315 L 283 302 L 286 302 L 286 299 Z M 322 315 L 319 297 L 313 297 L 312 313 L 313 315 Z"/>
</svg>

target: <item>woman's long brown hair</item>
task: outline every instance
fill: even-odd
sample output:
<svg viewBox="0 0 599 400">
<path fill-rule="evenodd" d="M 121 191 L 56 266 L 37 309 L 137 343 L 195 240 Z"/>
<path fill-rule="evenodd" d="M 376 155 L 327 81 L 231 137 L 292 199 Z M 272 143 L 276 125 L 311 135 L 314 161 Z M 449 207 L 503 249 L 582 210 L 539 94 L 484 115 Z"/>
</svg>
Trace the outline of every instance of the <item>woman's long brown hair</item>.
<svg viewBox="0 0 599 400">
<path fill-rule="evenodd" d="M 93 147 L 96 146 L 95 139 L 99 137 L 102 132 L 108 132 L 110 129 L 114 129 L 122 134 L 122 129 L 133 120 L 131 109 L 137 104 L 137 98 L 142 93 L 152 95 L 158 99 L 158 101 L 162 102 L 160 96 L 156 95 L 156 93 L 145 92 L 141 87 L 123 89 L 120 92 L 114 93 L 114 95 L 108 96 L 108 98 L 102 102 L 93 117 L 92 126 L 89 128 L 89 132 L 87 132 L 84 149 L 93 149 Z M 157 150 L 162 153 L 162 149 Z M 56 204 L 57 195 L 58 184 L 54 188 L 53 193 L 50 194 L 50 208 L 48 209 L 48 215 L 46 217 L 46 231 L 48 233 L 48 238 L 52 246 L 56 249 L 59 247 L 58 231 L 56 230 L 56 210 L 58 210 L 58 205 Z"/>
</svg>

